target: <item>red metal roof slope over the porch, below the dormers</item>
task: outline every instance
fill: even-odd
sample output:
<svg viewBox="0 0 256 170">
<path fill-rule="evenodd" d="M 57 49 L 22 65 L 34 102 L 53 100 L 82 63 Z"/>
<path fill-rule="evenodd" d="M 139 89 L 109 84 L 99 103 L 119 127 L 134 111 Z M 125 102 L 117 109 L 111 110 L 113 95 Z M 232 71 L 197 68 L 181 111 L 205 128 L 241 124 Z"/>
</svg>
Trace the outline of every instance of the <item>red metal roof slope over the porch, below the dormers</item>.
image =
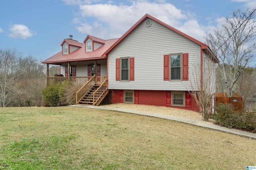
<svg viewBox="0 0 256 170">
<path fill-rule="evenodd" d="M 95 59 L 105 59 L 102 55 L 107 49 L 109 49 L 118 39 L 109 39 L 106 40 L 106 43 L 92 52 L 85 53 L 85 44 L 82 44 L 82 48 L 77 49 L 73 53 L 62 55 L 62 51 L 53 55 L 52 57 L 43 61 L 43 64 L 58 64 L 64 62 L 72 61 L 86 61 L 86 60 L 95 60 Z"/>
</svg>

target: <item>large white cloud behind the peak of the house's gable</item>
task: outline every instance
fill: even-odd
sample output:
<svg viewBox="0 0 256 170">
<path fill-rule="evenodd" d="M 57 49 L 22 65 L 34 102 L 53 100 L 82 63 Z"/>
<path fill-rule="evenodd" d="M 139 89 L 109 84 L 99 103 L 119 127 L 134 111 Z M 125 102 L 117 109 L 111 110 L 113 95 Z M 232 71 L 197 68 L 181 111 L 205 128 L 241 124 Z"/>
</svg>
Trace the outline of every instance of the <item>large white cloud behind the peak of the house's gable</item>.
<svg viewBox="0 0 256 170">
<path fill-rule="evenodd" d="M 108 33 L 105 34 L 104 37 L 100 38 L 116 38 L 117 35 L 125 33 L 146 13 L 169 25 L 172 25 L 173 27 L 182 25 L 181 20 L 188 19 L 185 12 L 168 3 L 157 4 L 147 1 L 138 1 L 132 2 L 130 5 L 83 4 L 80 5 L 80 15 L 81 18 L 86 20 L 86 23 L 83 22 L 76 28 L 84 34 L 90 33 L 94 36 L 99 36 L 98 34 L 100 32 L 97 32 L 96 30 L 100 31 L 108 29 Z M 191 14 L 188 15 L 191 16 Z M 96 29 L 88 29 L 88 31 L 84 30 L 85 27 L 88 28 L 88 25 L 91 27 L 95 26 L 95 23 L 90 23 L 88 18 L 95 18 L 94 20 L 100 23 L 100 25 L 98 25 Z M 79 23 L 78 18 L 74 21 Z M 82 20 L 80 21 L 82 22 Z M 110 35 L 116 36 L 110 37 Z"/>
</svg>

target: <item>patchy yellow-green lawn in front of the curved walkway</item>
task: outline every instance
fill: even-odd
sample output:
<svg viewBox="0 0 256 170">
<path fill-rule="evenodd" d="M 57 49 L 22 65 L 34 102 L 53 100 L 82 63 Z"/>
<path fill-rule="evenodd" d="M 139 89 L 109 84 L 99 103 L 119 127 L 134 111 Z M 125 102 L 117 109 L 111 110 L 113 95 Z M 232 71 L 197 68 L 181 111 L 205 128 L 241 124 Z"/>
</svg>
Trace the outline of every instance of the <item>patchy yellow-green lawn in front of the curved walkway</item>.
<svg viewBox="0 0 256 170">
<path fill-rule="evenodd" d="M 245 169 L 256 140 L 77 107 L 0 108 L 0 169 Z"/>
</svg>

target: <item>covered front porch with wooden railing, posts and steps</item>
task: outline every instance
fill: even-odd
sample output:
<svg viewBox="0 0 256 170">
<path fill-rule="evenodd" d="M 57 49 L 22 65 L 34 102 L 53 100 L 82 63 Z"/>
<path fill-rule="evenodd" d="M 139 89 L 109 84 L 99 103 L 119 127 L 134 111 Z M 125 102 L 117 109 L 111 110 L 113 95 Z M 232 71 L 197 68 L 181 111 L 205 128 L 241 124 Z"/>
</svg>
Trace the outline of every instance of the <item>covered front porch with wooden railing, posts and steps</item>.
<svg viewBox="0 0 256 170">
<path fill-rule="evenodd" d="M 76 92 L 76 104 L 98 106 L 108 94 L 106 59 L 58 63 L 58 65 L 60 65 L 60 74 L 50 77 L 49 64 L 47 64 L 47 86 L 63 84 L 65 81 L 78 84 L 81 88 Z"/>
</svg>

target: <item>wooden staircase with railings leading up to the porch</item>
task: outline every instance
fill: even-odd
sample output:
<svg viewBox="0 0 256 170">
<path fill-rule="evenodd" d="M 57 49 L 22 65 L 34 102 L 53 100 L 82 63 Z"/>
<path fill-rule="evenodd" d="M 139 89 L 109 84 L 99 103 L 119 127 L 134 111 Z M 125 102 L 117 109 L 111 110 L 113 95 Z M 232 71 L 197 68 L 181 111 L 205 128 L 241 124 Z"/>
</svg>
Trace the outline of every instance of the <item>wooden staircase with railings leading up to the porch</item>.
<svg viewBox="0 0 256 170">
<path fill-rule="evenodd" d="M 101 80 L 101 81 L 99 81 Z M 100 102 L 108 94 L 108 78 L 93 76 L 78 92 L 76 92 L 76 104 L 99 106 Z"/>
</svg>

